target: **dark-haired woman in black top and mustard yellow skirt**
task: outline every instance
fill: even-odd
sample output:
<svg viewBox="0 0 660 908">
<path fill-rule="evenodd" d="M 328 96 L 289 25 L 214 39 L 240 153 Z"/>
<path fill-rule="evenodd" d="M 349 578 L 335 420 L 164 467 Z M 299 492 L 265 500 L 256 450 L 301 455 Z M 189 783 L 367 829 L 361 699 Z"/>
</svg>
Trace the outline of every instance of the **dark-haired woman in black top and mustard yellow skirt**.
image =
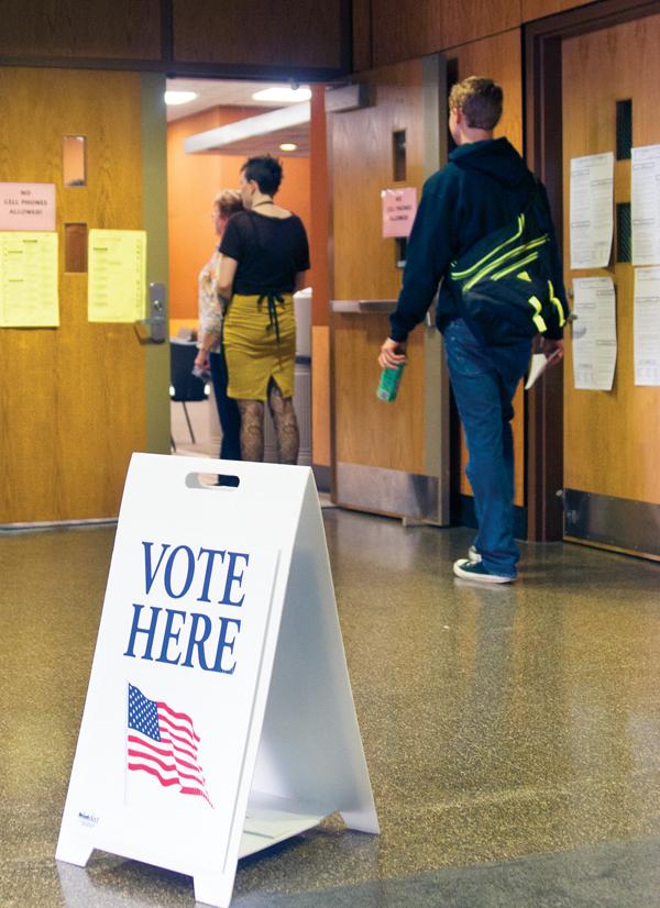
<svg viewBox="0 0 660 908">
<path fill-rule="evenodd" d="M 245 210 L 227 224 L 220 244 L 218 291 L 228 307 L 224 352 L 229 397 L 241 413 L 241 454 L 263 461 L 264 405 L 275 423 L 279 463 L 298 459 L 298 421 L 292 400 L 296 362 L 293 295 L 305 286 L 309 246 L 302 222 L 273 201 L 282 165 L 271 155 L 241 168 Z"/>
</svg>

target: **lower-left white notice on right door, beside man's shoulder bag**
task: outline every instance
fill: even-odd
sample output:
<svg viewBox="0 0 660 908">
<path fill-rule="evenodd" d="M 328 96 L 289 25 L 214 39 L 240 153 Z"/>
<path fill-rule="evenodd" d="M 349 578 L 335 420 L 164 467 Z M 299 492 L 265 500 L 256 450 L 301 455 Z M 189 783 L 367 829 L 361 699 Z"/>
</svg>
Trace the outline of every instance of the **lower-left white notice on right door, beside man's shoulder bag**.
<svg viewBox="0 0 660 908">
<path fill-rule="evenodd" d="M 573 377 L 579 389 L 610 391 L 616 366 L 616 301 L 609 277 L 573 280 Z"/>
</svg>

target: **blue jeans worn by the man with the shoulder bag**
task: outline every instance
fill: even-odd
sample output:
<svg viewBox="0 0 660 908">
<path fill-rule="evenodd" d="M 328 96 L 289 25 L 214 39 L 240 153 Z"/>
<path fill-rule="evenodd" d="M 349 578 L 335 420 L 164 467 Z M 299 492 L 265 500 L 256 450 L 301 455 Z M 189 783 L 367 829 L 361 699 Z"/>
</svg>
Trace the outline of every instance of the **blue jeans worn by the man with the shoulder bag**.
<svg viewBox="0 0 660 908">
<path fill-rule="evenodd" d="M 474 492 L 474 546 L 492 574 L 516 576 L 512 401 L 531 355 L 531 341 L 482 346 L 462 319 L 444 330 L 449 377 L 465 430 L 465 473 Z"/>
</svg>

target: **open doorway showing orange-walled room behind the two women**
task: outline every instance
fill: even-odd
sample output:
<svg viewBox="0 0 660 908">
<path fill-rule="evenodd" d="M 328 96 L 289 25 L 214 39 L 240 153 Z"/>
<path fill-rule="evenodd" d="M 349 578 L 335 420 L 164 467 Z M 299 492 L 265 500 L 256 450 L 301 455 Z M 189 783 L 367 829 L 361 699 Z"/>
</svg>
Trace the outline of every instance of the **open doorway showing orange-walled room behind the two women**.
<svg viewBox="0 0 660 908">
<path fill-rule="evenodd" d="M 184 102 L 167 107 L 169 333 L 173 343 L 195 344 L 198 278 L 217 246 L 210 218 L 213 199 L 223 189 L 238 188 L 246 157 L 271 154 L 280 159 L 284 179 L 277 200 L 300 217 L 310 234 L 311 90 L 308 86 L 277 82 L 173 78 L 167 80 L 167 91 L 187 97 Z M 298 109 L 300 115 L 292 115 Z M 191 146 L 199 151 L 190 151 Z M 295 304 L 298 463 L 310 465 L 311 291 L 298 295 Z M 172 405 L 172 434 L 179 454 L 218 456 L 221 429 L 210 383 L 207 390 L 207 400 L 186 405 L 189 423 L 182 403 Z M 270 414 L 265 423 L 265 459 L 277 461 Z"/>
</svg>

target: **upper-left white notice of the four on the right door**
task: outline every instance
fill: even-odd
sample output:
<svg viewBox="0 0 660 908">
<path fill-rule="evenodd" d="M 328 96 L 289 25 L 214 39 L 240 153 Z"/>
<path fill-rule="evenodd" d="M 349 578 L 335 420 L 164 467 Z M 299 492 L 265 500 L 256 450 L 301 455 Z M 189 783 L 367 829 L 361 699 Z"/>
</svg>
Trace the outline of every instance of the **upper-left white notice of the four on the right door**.
<svg viewBox="0 0 660 908">
<path fill-rule="evenodd" d="M 605 268 L 614 235 L 614 154 L 571 158 L 571 268 Z"/>
</svg>

